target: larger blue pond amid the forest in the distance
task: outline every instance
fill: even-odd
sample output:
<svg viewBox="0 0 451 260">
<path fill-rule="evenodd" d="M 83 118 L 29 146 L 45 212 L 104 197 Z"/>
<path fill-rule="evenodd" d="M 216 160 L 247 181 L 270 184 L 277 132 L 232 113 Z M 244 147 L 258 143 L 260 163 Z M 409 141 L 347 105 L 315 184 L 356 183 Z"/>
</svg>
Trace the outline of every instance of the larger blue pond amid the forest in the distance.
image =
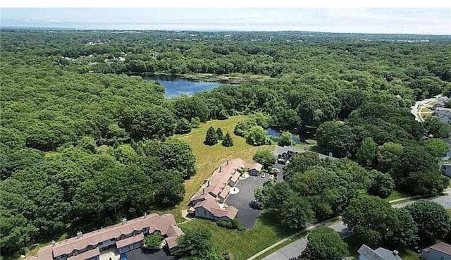
<svg viewBox="0 0 451 260">
<path fill-rule="evenodd" d="M 165 96 L 168 98 L 180 97 L 183 94 L 191 96 L 197 92 L 204 92 L 221 85 L 220 82 L 196 82 L 172 76 L 145 75 L 144 80 L 156 80 L 165 89 Z"/>
</svg>

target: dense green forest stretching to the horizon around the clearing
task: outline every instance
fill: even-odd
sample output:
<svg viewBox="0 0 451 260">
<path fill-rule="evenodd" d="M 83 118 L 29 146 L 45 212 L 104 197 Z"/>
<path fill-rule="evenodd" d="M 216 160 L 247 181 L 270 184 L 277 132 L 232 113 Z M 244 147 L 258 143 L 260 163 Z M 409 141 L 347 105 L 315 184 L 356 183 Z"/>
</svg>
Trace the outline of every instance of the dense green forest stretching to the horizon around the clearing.
<svg viewBox="0 0 451 260">
<path fill-rule="evenodd" d="M 409 107 L 436 94 L 450 97 L 450 37 L 399 42 L 426 36 L 0 34 L 2 256 L 120 216 L 171 209 L 183 200 L 183 180 L 195 178 L 190 146 L 173 135 L 239 114 L 263 114 L 267 125 L 294 133 L 312 128 L 320 151 L 347 158 L 308 159 L 310 168 L 294 163 L 288 171 L 288 202 L 319 202 L 309 217 L 342 213 L 362 190 L 381 197 L 393 187 L 438 194 L 449 184 L 438 168 L 437 142 L 423 137 L 449 137 L 451 126 L 434 118 L 419 123 Z M 146 73 L 271 78 L 165 99 L 161 85 L 140 77 Z M 261 125 L 257 121 L 246 127 Z M 330 183 L 337 180 L 345 184 L 334 190 Z M 329 192 L 302 187 L 316 181 Z M 304 194 L 305 201 L 294 194 Z"/>
</svg>

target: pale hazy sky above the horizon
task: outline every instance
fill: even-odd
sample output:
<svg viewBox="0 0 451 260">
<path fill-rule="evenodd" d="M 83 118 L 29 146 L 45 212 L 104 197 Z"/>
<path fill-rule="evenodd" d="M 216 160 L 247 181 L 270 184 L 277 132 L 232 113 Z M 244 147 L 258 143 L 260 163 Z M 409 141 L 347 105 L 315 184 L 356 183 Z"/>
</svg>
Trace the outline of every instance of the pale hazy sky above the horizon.
<svg viewBox="0 0 451 260">
<path fill-rule="evenodd" d="M 1 8 L 1 26 L 451 35 L 451 8 Z"/>
</svg>

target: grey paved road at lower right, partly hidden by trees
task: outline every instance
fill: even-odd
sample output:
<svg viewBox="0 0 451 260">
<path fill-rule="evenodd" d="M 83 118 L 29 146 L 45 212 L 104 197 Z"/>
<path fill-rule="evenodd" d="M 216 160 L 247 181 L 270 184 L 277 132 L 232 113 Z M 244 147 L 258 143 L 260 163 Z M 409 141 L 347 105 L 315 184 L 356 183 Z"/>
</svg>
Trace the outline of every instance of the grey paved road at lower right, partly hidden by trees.
<svg viewBox="0 0 451 260">
<path fill-rule="evenodd" d="M 445 207 L 445 209 L 451 209 L 451 195 L 450 191 L 447 191 L 447 195 L 435 197 L 431 199 L 433 202 L 437 202 L 438 204 Z M 400 204 L 395 204 L 393 207 L 400 208 L 403 206 L 407 206 L 408 204 L 412 204 L 414 201 L 404 202 Z M 337 231 L 340 234 L 340 237 L 345 238 L 347 236 L 352 235 L 352 232 L 347 229 L 347 226 L 343 221 L 338 221 L 336 223 L 332 223 L 328 225 L 329 228 Z M 276 252 L 266 256 L 263 260 L 289 260 L 290 258 L 297 257 L 304 251 L 305 247 L 307 247 L 307 237 L 302 237 L 291 244 L 288 244 L 286 247 L 279 249 Z M 250 258 L 254 259 L 254 258 Z M 249 259 L 248 259 L 249 260 Z"/>
</svg>

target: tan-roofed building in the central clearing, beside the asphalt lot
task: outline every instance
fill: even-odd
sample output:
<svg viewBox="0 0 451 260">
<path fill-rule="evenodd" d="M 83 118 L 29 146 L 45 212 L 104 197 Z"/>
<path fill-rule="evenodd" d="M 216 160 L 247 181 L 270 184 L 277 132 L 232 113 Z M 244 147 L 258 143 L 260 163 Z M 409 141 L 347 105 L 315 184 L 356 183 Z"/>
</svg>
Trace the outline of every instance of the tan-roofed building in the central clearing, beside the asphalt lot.
<svg viewBox="0 0 451 260">
<path fill-rule="evenodd" d="M 235 187 L 242 170 L 247 166 L 242 159 L 227 160 L 216 168 L 211 176 L 205 180 L 199 192 L 190 199 L 190 213 L 199 218 L 209 218 L 215 221 L 232 221 L 238 210 L 234 206 L 226 206 L 224 202 Z M 252 171 L 260 171 L 261 164 L 252 164 Z M 257 173 L 258 175 L 258 173 Z"/>
</svg>

